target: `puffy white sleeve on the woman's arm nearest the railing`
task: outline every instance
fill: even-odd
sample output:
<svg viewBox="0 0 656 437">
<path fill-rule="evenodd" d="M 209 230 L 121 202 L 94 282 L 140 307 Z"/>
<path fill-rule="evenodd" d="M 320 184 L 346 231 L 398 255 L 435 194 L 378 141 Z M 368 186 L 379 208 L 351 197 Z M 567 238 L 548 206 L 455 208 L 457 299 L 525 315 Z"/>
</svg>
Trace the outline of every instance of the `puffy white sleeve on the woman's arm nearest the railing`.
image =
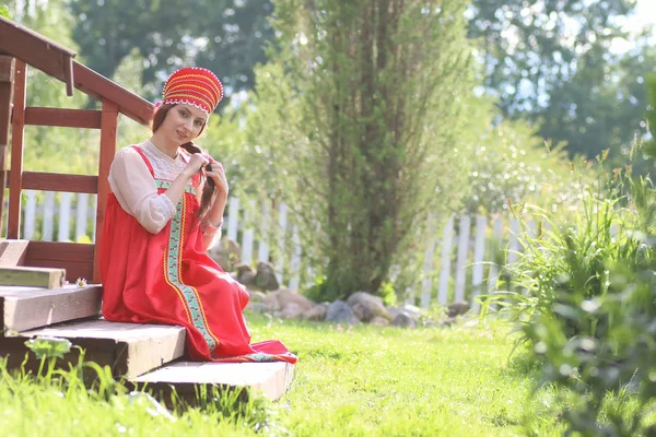
<svg viewBox="0 0 656 437">
<path fill-rule="evenodd" d="M 121 208 L 150 233 L 157 234 L 175 214 L 175 205 L 157 194 L 155 180 L 132 147 L 120 150 L 109 169 L 109 187 Z"/>
</svg>

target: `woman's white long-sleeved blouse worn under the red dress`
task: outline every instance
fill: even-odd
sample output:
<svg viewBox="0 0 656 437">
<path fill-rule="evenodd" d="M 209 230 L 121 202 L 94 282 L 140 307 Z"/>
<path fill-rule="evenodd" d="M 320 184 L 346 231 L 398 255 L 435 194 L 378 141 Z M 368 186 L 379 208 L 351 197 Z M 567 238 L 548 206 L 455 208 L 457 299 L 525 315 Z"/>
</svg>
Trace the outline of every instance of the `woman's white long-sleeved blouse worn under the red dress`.
<svg viewBox="0 0 656 437">
<path fill-rule="evenodd" d="M 183 149 L 178 150 L 175 158 L 172 158 L 150 141 L 137 144 L 137 147 L 150 161 L 155 177 L 151 175 L 143 158 L 132 147 L 121 149 L 109 168 L 109 187 L 120 206 L 151 234 L 157 234 L 166 223 L 175 215 L 176 208 L 164 193 L 157 194 L 155 179 L 173 181 L 177 175 L 185 169 L 189 154 Z M 200 200 L 202 184 L 197 189 Z M 191 179 L 187 182 L 192 187 Z M 221 228 L 216 231 L 208 223 L 201 223 L 203 227 L 203 247 L 209 249 L 221 238 Z"/>
</svg>

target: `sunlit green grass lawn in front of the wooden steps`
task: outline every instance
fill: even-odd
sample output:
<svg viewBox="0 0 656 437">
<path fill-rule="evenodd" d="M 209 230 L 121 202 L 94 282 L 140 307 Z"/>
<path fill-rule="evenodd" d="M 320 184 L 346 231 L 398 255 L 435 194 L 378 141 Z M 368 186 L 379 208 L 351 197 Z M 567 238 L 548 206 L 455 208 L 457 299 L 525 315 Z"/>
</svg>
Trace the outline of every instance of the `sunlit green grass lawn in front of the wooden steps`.
<svg viewBox="0 0 656 437">
<path fill-rule="evenodd" d="M 248 317 L 254 341 L 277 338 L 298 355 L 276 404 L 236 412 L 223 397 L 168 414 L 106 376 L 85 390 L 77 371 L 52 380 L 2 371 L 2 435 L 515 436 L 526 435 L 527 418 L 539 435 L 562 434 L 553 397 L 531 392 L 537 367 L 508 361 L 513 339 L 502 326 L 338 330 Z"/>
</svg>

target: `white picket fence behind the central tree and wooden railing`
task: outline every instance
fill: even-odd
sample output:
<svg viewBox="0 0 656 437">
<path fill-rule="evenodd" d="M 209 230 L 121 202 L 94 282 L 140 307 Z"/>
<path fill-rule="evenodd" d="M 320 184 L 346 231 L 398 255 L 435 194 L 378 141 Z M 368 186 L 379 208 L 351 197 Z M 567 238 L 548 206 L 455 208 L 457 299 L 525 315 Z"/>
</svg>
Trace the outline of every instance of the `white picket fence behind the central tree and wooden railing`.
<svg viewBox="0 0 656 437">
<path fill-rule="evenodd" d="M 96 200 L 95 194 L 25 190 L 21 238 L 94 241 Z M 253 200 L 244 205 L 243 200 L 230 198 L 223 234 L 239 243 L 244 261 L 271 261 L 271 245 L 276 245 L 273 264 L 279 283 L 290 288 L 312 285 L 314 274 L 302 262 L 298 228 L 288 216 L 286 205 L 281 202 L 277 211 L 270 209 L 267 202 L 257 210 Z M 254 211 L 258 211 L 259 223 L 251 220 Z M 529 223 L 529 228 L 535 232 L 535 224 Z M 450 217 L 442 233 L 429 234 L 423 280 L 417 290 L 406 291 L 407 303 L 421 307 L 429 307 L 434 302 L 447 305 L 469 300 L 477 308 L 476 296 L 493 291 L 496 285 L 500 253 L 502 257 L 507 255 L 503 262 L 512 263 L 520 249 L 519 221 L 512 216 L 494 221 L 483 216 L 475 220 L 467 215 Z M 273 237 L 269 240 L 258 237 L 266 235 Z"/>
</svg>

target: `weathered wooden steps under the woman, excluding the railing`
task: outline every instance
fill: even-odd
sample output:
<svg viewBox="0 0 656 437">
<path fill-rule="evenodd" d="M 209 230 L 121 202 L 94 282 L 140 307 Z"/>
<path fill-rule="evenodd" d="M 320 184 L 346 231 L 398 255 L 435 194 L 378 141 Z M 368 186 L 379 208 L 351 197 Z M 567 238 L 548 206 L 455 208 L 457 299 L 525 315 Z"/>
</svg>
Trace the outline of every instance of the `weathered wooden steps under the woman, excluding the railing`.
<svg viewBox="0 0 656 437">
<path fill-rule="evenodd" d="M 246 387 L 278 400 L 291 383 L 294 366 L 286 363 L 188 362 L 183 327 L 103 320 L 101 297 L 99 285 L 0 286 L 0 357 L 8 358 L 9 368 L 17 368 L 27 354 L 25 368 L 35 371 L 39 362 L 25 342 L 38 336 L 67 339 L 84 349 L 84 359 L 109 366 L 115 378 L 164 401 L 175 389 L 192 403 L 197 392 L 211 387 Z M 58 365 L 77 363 L 79 347 L 72 347 Z"/>
</svg>

